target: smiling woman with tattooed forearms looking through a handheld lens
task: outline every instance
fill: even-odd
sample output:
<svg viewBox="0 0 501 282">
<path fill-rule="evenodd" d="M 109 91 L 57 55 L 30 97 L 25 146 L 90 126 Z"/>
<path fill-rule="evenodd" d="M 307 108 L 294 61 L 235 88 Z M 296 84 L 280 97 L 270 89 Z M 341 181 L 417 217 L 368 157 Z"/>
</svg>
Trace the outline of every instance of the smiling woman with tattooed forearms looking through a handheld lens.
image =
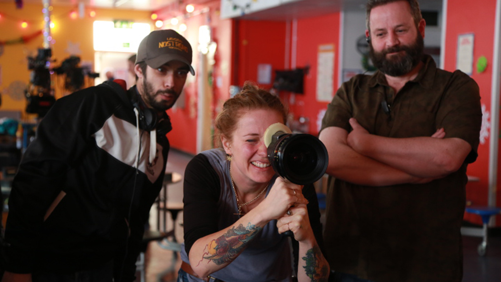
<svg viewBox="0 0 501 282">
<path fill-rule="evenodd" d="M 178 281 L 292 281 L 295 273 L 327 281 L 314 187 L 278 177 L 267 156 L 264 132 L 286 117 L 278 97 L 249 82 L 224 103 L 215 120 L 222 149 L 186 167 Z"/>
</svg>

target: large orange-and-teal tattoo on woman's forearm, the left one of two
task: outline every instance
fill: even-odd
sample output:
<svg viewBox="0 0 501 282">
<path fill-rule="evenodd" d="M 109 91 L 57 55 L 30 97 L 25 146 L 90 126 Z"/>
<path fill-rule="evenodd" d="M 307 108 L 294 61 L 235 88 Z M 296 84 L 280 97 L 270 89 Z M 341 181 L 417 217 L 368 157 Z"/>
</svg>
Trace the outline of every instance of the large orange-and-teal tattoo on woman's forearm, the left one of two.
<svg viewBox="0 0 501 282">
<path fill-rule="evenodd" d="M 254 224 L 242 224 L 232 227 L 219 238 L 210 241 L 206 246 L 207 252 L 202 255 L 203 258 L 212 260 L 215 264 L 221 265 L 232 261 L 245 247 L 245 243 L 252 240 L 261 230 Z"/>
</svg>

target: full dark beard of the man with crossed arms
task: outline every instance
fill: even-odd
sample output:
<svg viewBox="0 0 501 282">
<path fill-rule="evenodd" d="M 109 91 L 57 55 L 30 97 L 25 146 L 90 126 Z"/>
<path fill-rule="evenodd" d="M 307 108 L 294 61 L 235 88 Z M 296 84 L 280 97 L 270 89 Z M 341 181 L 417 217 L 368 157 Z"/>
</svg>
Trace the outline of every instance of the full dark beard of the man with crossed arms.
<svg viewBox="0 0 501 282">
<path fill-rule="evenodd" d="M 409 73 L 421 61 L 424 52 L 424 41 L 418 32 L 415 43 L 410 46 L 399 45 L 381 52 L 375 52 L 372 44 L 369 44 L 369 47 L 369 56 L 378 70 L 389 76 L 401 76 Z M 387 54 L 400 51 L 404 51 L 404 54 L 396 54 L 386 58 Z"/>
</svg>

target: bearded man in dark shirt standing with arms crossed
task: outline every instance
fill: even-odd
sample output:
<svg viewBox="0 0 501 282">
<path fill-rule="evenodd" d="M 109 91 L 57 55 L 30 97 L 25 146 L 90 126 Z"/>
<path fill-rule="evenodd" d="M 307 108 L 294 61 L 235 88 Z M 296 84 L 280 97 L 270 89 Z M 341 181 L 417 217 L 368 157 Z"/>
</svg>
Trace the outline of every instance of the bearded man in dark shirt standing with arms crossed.
<svg viewBox="0 0 501 282">
<path fill-rule="evenodd" d="M 343 83 L 322 121 L 331 176 L 330 281 L 461 281 L 466 166 L 481 126 L 479 89 L 423 54 L 416 0 L 369 0 L 373 75 Z"/>
</svg>

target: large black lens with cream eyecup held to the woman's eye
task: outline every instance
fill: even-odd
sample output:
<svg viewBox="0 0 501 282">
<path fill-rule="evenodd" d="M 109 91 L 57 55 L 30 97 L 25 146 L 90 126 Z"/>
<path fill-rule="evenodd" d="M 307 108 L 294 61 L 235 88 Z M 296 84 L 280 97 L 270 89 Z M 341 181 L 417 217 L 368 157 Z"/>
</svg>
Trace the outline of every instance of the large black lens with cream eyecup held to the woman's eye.
<svg viewBox="0 0 501 282">
<path fill-rule="evenodd" d="M 317 137 L 292 133 L 283 123 L 272 124 L 264 135 L 268 159 L 281 177 L 305 185 L 325 174 L 329 156 L 325 145 Z"/>
</svg>

